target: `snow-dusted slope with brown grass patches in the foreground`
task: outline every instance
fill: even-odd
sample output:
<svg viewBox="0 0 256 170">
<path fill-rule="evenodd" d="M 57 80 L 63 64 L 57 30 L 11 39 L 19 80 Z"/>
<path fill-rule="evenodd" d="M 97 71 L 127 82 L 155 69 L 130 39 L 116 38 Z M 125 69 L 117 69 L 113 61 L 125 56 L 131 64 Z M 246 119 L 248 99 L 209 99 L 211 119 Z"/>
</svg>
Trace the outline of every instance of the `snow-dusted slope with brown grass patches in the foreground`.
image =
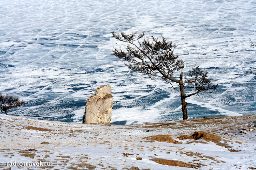
<svg viewBox="0 0 256 170">
<path fill-rule="evenodd" d="M 246 115 L 153 124 L 97 125 L 0 115 L 0 168 L 190 169 L 153 161 L 173 160 L 198 169 L 248 170 L 256 168 L 256 131 L 239 132 L 256 124 L 255 118 L 256 115 Z M 179 138 L 195 131 L 220 135 L 220 143 Z M 179 143 L 144 138 L 166 134 Z M 41 166 L 29 165 L 37 162 Z M 22 163 L 22 166 L 13 166 L 15 163 Z"/>
</svg>

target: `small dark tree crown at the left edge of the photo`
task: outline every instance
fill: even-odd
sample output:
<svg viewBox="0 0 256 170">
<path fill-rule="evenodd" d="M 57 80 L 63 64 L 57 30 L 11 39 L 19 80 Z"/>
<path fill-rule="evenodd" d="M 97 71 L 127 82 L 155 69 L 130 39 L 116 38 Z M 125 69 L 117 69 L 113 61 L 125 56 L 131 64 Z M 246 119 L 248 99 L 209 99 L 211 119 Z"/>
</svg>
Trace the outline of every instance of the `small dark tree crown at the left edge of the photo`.
<svg viewBox="0 0 256 170">
<path fill-rule="evenodd" d="M 11 95 L 3 95 L 0 93 L 0 111 L 7 114 L 7 111 L 19 107 L 24 104 L 24 100 L 18 100 L 18 98 Z"/>
</svg>

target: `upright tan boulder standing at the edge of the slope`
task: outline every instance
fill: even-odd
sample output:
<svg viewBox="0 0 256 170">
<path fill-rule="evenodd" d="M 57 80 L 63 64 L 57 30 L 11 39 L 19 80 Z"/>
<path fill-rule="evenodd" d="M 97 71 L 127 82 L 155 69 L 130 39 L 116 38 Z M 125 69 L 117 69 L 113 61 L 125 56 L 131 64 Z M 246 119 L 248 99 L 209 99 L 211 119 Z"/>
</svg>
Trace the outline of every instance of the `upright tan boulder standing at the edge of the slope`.
<svg viewBox="0 0 256 170">
<path fill-rule="evenodd" d="M 112 107 L 111 86 L 98 87 L 95 90 L 95 95 L 86 100 L 83 123 L 110 124 Z"/>
</svg>

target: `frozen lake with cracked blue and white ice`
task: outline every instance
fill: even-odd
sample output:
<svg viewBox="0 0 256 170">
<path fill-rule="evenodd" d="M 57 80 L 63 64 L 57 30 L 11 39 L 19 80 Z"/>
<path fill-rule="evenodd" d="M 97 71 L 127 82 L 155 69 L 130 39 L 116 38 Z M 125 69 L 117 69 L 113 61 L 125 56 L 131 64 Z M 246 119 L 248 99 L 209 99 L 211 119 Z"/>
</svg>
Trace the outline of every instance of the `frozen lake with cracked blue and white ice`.
<svg viewBox="0 0 256 170">
<path fill-rule="evenodd" d="M 253 0 L 2 0 L 0 92 L 25 100 L 10 115 L 81 123 L 86 100 L 110 84 L 112 122 L 182 119 L 179 92 L 112 55 L 125 46 L 112 31 L 145 31 L 178 45 L 185 73 L 199 64 L 219 83 L 187 99 L 189 119 L 256 114 L 255 21 Z"/>
</svg>

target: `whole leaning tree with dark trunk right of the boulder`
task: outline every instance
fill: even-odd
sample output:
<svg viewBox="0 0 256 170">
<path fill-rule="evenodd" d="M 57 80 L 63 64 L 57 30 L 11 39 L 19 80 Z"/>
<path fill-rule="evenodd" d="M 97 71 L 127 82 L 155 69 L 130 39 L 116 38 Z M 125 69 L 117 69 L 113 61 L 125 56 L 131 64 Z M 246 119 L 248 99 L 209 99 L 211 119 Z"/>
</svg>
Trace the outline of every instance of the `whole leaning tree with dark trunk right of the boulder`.
<svg viewBox="0 0 256 170">
<path fill-rule="evenodd" d="M 174 54 L 174 49 L 177 46 L 162 35 L 161 40 L 151 36 L 152 41 L 145 38 L 142 42 L 139 39 L 145 35 L 144 32 L 138 35 L 112 32 L 112 35 L 115 39 L 128 43 L 126 51 L 114 47 L 113 55 L 128 61 L 125 65 L 129 69 L 147 74 L 152 80 L 161 78 L 173 88 L 173 82 L 179 84 L 183 119 L 187 119 L 188 103 L 186 103 L 186 98 L 198 95 L 200 92 L 211 92 L 217 88 L 218 84 L 213 85 L 211 79 L 208 79 L 208 72 L 203 72 L 199 66 L 189 70 L 188 74 L 184 76 L 184 82 L 183 72 L 180 73 L 179 79 L 173 78 L 175 72 L 184 68 L 184 64 L 178 55 Z M 186 94 L 185 88 L 194 89 L 191 91 L 195 92 Z"/>
</svg>

